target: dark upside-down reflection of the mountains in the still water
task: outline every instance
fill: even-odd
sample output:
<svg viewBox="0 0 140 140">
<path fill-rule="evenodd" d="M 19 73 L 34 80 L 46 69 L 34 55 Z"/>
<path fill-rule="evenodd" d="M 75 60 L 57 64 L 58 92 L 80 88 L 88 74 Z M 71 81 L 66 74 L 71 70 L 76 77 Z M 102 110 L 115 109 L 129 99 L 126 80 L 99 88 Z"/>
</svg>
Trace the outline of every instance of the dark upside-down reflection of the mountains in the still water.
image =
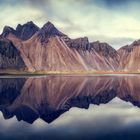
<svg viewBox="0 0 140 140">
<path fill-rule="evenodd" d="M 4 118 L 50 123 L 71 107 L 88 108 L 118 97 L 140 107 L 140 77 L 47 76 L 0 79 L 0 110 Z"/>
</svg>

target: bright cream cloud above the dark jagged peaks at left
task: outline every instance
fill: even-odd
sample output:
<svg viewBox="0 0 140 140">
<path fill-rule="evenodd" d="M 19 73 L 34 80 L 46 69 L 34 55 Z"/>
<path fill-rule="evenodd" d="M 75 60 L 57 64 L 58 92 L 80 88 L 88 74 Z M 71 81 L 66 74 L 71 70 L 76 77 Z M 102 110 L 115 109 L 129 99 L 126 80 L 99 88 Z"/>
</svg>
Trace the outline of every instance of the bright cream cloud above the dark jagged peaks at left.
<svg viewBox="0 0 140 140">
<path fill-rule="evenodd" d="M 0 19 L 3 19 L 0 22 L 1 31 L 5 25 L 9 25 L 12 27 L 16 27 L 18 23 L 25 23 L 27 21 L 36 21 L 39 24 L 43 13 L 40 10 L 31 9 L 30 7 L 26 7 L 26 14 L 25 14 L 25 7 L 14 7 L 7 6 L 7 9 L 3 9 L 3 14 L 0 14 Z M 19 12 L 15 12 L 19 11 Z M 8 16 L 7 16 L 8 15 Z M 5 18 L 6 17 L 6 18 Z"/>
</svg>

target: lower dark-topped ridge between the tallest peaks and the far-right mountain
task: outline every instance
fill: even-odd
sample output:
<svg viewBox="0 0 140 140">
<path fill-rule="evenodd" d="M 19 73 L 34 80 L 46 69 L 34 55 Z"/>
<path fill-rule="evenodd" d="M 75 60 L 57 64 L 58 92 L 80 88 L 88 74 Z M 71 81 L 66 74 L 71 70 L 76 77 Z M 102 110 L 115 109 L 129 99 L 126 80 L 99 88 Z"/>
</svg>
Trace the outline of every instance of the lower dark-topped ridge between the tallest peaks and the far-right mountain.
<svg viewBox="0 0 140 140">
<path fill-rule="evenodd" d="M 77 50 L 88 66 L 88 70 L 115 71 L 118 68 L 119 56 L 117 51 L 107 43 L 99 41 L 90 43 L 88 38 L 84 37 L 69 39 L 66 44 Z"/>
</svg>

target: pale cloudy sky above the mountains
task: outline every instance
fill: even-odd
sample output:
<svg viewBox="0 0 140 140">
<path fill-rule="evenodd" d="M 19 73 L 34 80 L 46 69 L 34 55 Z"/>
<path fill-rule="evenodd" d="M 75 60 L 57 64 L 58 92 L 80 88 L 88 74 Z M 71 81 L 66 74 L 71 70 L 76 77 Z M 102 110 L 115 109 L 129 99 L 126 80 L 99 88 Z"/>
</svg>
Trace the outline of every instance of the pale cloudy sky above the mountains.
<svg viewBox="0 0 140 140">
<path fill-rule="evenodd" d="M 52 22 L 70 38 L 107 42 L 115 49 L 140 39 L 140 0 L 0 0 L 0 32 L 33 21 Z"/>
</svg>

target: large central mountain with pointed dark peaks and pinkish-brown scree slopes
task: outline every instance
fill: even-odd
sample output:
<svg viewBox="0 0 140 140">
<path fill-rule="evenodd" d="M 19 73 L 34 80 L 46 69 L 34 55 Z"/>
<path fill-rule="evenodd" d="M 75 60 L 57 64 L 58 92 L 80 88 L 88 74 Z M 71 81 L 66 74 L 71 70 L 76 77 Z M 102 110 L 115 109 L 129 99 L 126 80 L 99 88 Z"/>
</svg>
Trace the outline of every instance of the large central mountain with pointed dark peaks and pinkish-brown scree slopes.
<svg viewBox="0 0 140 140">
<path fill-rule="evenodd" d="M 114 71 L 117 63 L 117 55 L 111 53 L 102 55 L 95 50 L 96 44 L 90 43 L 87 37 L 70 39 L 60 32 L 51 22 L 47 22 L 41 29 L 32 31 L 34 23 L 18 25 L 16 30 L 4 29 L 2 36 L 11 40 L 26 65 L 28 71 L 49 71 L 49 72 L 88 72 L 88 71 Z M 26 29 L 26 30 L 25 30 Z M 31 30 L 31 37 L 28 36 Z M 38 29 L 38 30 L 37 30 Z M 23 32 L 24 31 L 24 32 Z M 27 34 L 27 35 L 26 35 Z M 22 35 L 22 37 L 21 37 Z M 25 38 L 27 38 L 25 40 Z M 98 42 L 98 46 L 104 45 Z M 109 45 L 108 50 L 113 50 Z M 113 53 L 117 53 L 114 51 Z M 110 57 L 109 57 L 110 56 Z"/>
</svg>

